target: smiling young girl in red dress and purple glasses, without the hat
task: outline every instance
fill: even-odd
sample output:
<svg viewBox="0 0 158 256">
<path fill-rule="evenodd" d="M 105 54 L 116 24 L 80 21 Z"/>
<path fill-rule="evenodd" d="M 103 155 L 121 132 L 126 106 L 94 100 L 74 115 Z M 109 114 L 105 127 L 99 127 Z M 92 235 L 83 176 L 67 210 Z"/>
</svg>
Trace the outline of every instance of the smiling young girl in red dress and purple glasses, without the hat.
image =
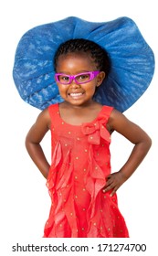
<svg viewBox="0 0 158 256">
<path fill-rule="evenodd" d="M 111 63 L 103 48 L 70 39 L 56 52 L 55 79 L 63 102 L 51 104 L 26 135 L 26 149 L 47 179 L 51 208 L 44 237 L 127 238 L 116 191 L 142 163 L 151 139 L 113 107 L 93 100 Z M 40 145 L 51 131 L 52 159 Z M 133 144 L 132 154 L 111 173 L 111 134 Z"/>
</svg>

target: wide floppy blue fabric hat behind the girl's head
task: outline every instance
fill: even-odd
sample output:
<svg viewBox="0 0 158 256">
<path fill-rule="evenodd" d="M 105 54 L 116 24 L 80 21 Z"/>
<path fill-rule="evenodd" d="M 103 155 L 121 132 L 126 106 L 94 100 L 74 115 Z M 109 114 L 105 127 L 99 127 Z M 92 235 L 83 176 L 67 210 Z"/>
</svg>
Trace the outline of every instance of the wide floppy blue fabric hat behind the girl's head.
<svg viewBox="0 0 158 256">
<path fill-rule="evenodd" d="M 58 46 L 71 38 L 96 42 L 111 59 L 111 72 L 96 91 L 96 101 L 124 112 L 148 88 L 154 71 L 153 51 L 131 18 L 89 22 L 70 16 L 34 27 L 20 39 L 13 78 L 24 101 L 40 110 L 62 101 L 53 59 Z"/>
</svg>

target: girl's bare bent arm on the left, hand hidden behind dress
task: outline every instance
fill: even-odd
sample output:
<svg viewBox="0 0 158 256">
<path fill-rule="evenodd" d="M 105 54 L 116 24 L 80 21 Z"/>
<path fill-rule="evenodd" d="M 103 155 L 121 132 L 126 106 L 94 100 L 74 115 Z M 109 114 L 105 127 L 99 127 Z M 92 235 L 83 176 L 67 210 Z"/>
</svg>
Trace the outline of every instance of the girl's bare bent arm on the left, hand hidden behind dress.
<svg viewBox="0 0 158 256">
<path fill-rule="evenodd" d="M 26 150 L 41 174 L 46 178 L 50 165 L 47 162 L 40 142 L 49 130 L 49 126 L 50 118 L 46 109 L 38 115 L 36 123 L 33 124 L 26 135 Z"/>
</svg>

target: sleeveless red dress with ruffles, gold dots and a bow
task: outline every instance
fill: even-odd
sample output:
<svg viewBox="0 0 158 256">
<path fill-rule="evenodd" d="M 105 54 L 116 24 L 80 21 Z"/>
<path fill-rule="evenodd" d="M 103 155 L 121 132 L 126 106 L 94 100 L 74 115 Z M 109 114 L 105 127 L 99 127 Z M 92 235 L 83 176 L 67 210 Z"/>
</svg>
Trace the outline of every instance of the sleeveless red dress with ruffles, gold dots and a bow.
<svg viewBox="0 0 158 256">
<path fill-rule="evenodd" d="M 117 196 L 103 193 L 111 174 L 111 135 L 106 123 L 112 108 L 103 106 L 91 123 L 65 123 L 58 104 L 51 117 L 52 164 L 47 177 L 51 208 L 45 238 L 127 238 Z"/>
</svg>

